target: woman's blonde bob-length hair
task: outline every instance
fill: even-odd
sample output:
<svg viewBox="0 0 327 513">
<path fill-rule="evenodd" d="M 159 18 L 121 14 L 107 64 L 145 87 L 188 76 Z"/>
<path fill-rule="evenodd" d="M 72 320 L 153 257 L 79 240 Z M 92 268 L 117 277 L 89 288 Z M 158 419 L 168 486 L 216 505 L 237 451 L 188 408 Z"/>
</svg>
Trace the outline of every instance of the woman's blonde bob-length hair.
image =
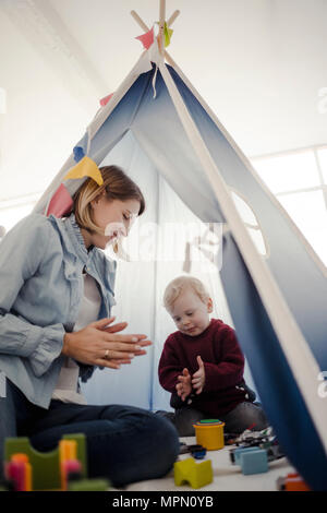
<svg viewBox="0 0 327 513">
<path fill-rule="evenodd" d="M 93 220 L 92 201 L 101 194 L 106 194 L 107 200 L 137 200 L 140 201 L 138 215 L 145 211 L 145 200 L 140 188 L 128 175 L 118 166 L 104 166 L 99 168 L 104 183 L 98 186 L 95 180 L 88 178 L 73 195 L 73 208 L 76 223 L 81 228 L 90 232 L 104 235 L 104 229 L 99 228 Z"/>
</svg>

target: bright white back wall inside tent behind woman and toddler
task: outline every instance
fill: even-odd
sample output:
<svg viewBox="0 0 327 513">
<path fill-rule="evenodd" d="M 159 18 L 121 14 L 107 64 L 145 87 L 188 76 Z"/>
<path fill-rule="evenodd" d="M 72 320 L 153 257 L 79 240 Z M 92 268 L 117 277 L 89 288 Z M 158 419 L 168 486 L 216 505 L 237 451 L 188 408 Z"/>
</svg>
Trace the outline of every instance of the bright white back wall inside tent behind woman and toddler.
<svg viewBox="0 0 327 513">
<path fill-rule="evenodd" d="M 113 163 L 121 166 L 140 184 L 145 198 L 150 200 L 147 202 L 145 214 L 129 236 L 128 247 L 132 261 L 119 261 L 116 281 L 119 284 L 116 290 L 117 305 L 112 313 L 118 320 L 129 322 L 125 332 L 138 333 L 141 330 L 154 341 L 154 346 L 148 348 L 147 357 L 138 358 L 131 367 L 122 368 L 120 372 L 97 371 L 82 387 L 90 404 L 119 402 L 153 410 L 171 409 L 170 394 L 160 386 L 157 373 L 164 343 L 169 333 L 175 331 L 174 323 L 162 307 L 162 295 L 168 282 L 183 274 L 190 230 L 193 229 L 195 236 L 201 228 L 204 230 L 205 225 L 157 172 L 152 162 L 140 150 L 132 132 L 124 135 L 101 165 Z M 137 238 L 142 236 L 146 236 L 148 241 L 143 250 L 140 250 Z M 157 247 L 156 237 L 160 237 L 160 246 Z M 199 250 L 193 249 L 193 253 L 195 254 L 192 255 L 191 272 L 203 279 L 210 289 L 215 302 L 213 315 L 232 325 L 215 265 L 210 264 Z M 110 258 L 114 258 L 113 253 L 110 253 Z M 247 366 L 245 379 L 249 385 L 255 389 Z"/>
</svg>

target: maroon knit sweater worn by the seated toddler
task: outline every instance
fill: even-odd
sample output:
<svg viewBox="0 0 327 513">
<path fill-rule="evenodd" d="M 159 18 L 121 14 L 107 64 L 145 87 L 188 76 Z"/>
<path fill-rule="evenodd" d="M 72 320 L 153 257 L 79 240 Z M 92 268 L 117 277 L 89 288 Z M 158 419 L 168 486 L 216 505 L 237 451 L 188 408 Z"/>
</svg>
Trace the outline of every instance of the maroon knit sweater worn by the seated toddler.
<svg viewBox="0 0 327 513">
<path fill-rule="evenodd" d="M 198 355 L 205 367 L 205 385 L 202 393 L 193 397 L 192 407 L 219 418 L 246 401 L 246 391 L 242 387 L 245 384 L 244 357 L 234 330 L 219 319 L 211 319 L 206 330 L 196 336 L 180 331 L 169 335 L 159 361 L 159 382 L 164 389 L 175 392 L 178 377 L 184 368 L 191 377 L 198 370 Z"/>
</svg>

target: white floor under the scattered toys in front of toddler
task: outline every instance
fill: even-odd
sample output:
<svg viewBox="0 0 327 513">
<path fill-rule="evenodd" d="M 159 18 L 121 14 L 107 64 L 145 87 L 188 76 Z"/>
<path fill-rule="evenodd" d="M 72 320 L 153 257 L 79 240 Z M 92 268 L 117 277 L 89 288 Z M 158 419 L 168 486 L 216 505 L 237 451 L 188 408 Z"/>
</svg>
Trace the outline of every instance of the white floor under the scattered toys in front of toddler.
<svg viewBox="0 0 327 513">
<path fill-rule="evenodd" d="M 196 443 L 195 437 L 181 438 L 181 442 L 189 445 Z M 264 474 L 243 476 L 239 466 L 232 465 L 229 457 L 230 449 L 234 445 L 228 445 L 220 451 L 207 451 L 205 460 L 211 460 L 214 469 L 214 480 L 209 485 L 201 488 L 201 491 L 277 491 L 276 481 L 279 477 L 294 472 L 286 457 L 269 463 L 269 470 Z M 181 454 L 180 460 L 191 457 L 191 454 Z M 198 460 L 203 462 L 204 460 Z M 120 491 L 118 488 L 111 488 L 112 491 Z M 161 479 L 150 479 L 129 485 L 124 491 L 190 491 L 190 486 L 183 485 L 177 487 L 173 480 L 173 469 Z M 193 490 L 194 491 L 194 490 Z"/>
</svg>

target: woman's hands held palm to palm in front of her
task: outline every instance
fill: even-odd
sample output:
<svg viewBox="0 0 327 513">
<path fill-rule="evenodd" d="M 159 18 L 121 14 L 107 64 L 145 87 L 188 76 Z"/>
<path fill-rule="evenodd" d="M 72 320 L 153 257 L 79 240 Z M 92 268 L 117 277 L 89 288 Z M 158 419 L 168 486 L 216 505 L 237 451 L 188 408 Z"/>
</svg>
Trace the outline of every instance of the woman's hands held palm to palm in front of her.
<svg viewBox="0 0 327 513">
<path fill-rule="evenodd" d="M 121 363 L 131 363 L 134 356 L 145 355 L 142 347 L 152 345 L 146 335 L 117 335 L 126 327 L 122 322 L 109 326 L 114 318 L 93 322 L 83 330 L 66 333 L 62 354 L 81 363 L 119 369 Z M 106 354 L 108 356 L 106 356 Z"/>
</svg>

